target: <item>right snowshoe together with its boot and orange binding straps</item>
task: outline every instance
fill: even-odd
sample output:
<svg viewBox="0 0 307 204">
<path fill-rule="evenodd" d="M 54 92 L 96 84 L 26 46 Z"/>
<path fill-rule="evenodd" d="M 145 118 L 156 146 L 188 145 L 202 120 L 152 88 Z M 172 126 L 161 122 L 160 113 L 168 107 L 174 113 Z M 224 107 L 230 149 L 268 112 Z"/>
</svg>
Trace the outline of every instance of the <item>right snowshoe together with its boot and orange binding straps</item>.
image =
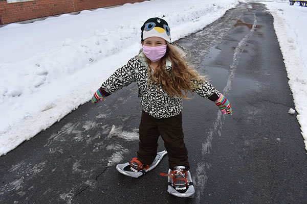
<svg viewBox="0 0 307 204">
<path fill-rule="evenodd" d="M 168 176 L 167 192 L 178 197 L 192 197 L 195 189 L 192 183 L 190 171 L 185 170 L 184 166 L 174 167 L 174 170 L 168 170 L 168 173 L 160 173 L 162 176 Z"/>
</svg>

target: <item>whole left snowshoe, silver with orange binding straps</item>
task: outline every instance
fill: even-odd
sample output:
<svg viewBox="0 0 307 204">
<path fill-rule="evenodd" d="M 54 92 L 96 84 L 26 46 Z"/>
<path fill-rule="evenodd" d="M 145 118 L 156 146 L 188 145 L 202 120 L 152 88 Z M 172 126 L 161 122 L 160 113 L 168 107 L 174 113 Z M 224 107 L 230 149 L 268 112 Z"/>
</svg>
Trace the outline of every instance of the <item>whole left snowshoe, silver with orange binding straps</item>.
<svg viewBox="0 0 307 204">
<path fill-rule="evenodd" d="M 126 176 L 138 178 L 158 166 L 166 154 L 166 150 L 158 152 L 155 160 L 153 160 L 152 164 L 150 165 L 142 165 L 137 158 L 133 158 L 131 162 L 116 165 L 116 169 Z"/>
</svg>

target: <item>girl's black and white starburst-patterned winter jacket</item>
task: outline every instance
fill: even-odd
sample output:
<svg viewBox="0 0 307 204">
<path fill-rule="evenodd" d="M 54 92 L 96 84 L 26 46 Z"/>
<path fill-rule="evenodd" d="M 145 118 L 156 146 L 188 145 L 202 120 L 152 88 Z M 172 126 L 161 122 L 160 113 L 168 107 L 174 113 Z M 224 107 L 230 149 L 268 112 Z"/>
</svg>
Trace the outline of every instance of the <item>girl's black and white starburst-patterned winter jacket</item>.
<svg viewBox="0 0 307 204">
<path fill-rule="evenodd" d="M 141 51 L 139 55 L 131 58 L 126 65 L 117 69 L 111 77 L 103 82 L 100 91 L 107 96 L 132 82 L 136 82 L 139 88 L 139 97 L 141 97 L 141 106 L 146 113 L 158 119 L 180 114 L 182 98 L 171 97 L 160 85 L 158 85 L 158 91 L 155 83 L 148 89 L 147 66 L 145 55 Z M 166 61 L 166 70 L 171 70 L 171 62 L 168 60 Z M 220 96 L 220 92 L 207 81 L 203 83 L 202 87 L 194 89 L 193 92 L 204 98 L 208 98 L 214 93 Z"/>
</svg>

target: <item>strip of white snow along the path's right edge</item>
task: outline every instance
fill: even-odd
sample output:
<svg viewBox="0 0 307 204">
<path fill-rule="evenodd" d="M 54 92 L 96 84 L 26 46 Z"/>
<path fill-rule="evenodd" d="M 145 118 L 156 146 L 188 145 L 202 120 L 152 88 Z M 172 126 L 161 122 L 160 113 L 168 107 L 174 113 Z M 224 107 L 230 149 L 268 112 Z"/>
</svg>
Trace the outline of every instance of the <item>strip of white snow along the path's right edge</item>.
<svg viewBox="0 0 307 204">
<path fill-rule="evenodd" d="M 299 3 L 290 6 L 289 1 L 262 3 L 267 5 L 274 18 L 274 29 L 307 150 L 307 8 L 300 7 Z"/>
</svg>

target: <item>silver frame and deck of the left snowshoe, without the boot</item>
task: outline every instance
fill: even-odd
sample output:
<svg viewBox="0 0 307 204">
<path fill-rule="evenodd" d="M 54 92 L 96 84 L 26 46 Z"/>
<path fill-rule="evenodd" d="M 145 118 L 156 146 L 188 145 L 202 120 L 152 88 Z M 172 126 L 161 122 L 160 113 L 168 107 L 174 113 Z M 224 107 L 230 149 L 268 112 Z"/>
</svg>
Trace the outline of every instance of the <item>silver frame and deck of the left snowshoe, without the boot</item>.
<svg viewBox="0 0 307 204">
<path fill-rule="evenodd" d="M 160 161 L 162 160 L 162 158 L 167 154 L 167 151 L 161 151 L 157 153 L 157 156 L 155 158 L 155 160 L 153 160 L 152 164 L 149 165 L 149 167 L 147 169 L 141 169 L 139 171 L 131 171 L 130 170 L 130 163 L 124 163 L 124 164 L 118 164 L 116 165 L 116 169 L 126 175 L 126 176 L 130 176 L 130 177 L 134 177 L 134 178 L 138 178 L 142 175 L 144 175 L 145 173 L 147 173 L 148 171 L 151 171 L 153 168 L 155 168 L 156 166 L 158 166 L 158 164 L 160 163 Z"/>
</svg>

